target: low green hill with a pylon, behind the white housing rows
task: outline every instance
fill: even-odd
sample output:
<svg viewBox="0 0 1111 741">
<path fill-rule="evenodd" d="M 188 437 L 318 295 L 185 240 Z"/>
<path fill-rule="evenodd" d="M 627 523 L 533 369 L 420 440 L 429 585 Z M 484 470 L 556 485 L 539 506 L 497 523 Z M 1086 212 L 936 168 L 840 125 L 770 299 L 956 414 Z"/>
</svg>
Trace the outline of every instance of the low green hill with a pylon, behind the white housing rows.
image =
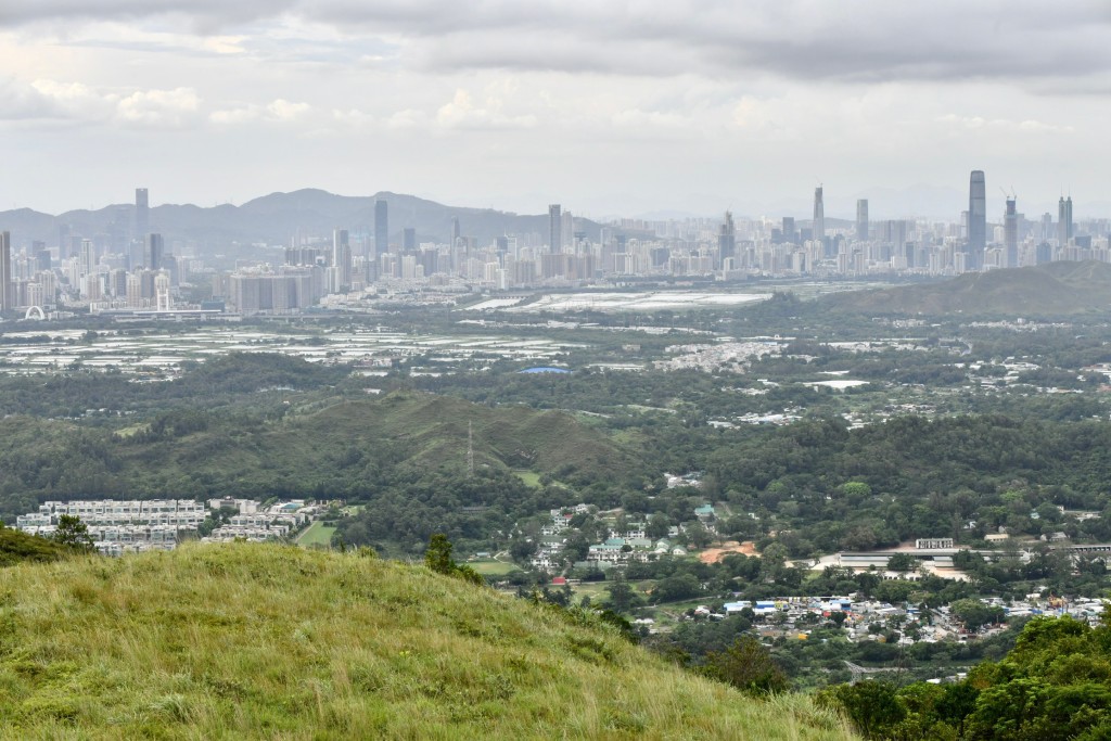
<svg viewBox="0 0 1111 741">
<path fill-rule="evenodd" d="M 570 414 L 491 408 L 428 393 L 344 401 L 263 422 L 170 411 L 113 434 L 58 420 L 0 420 L 0 512 L 71 497 L 369 497 L 467 468 L 527 469 L 588 485 L 620 482 L 638 457 Z"/>
</svg>

